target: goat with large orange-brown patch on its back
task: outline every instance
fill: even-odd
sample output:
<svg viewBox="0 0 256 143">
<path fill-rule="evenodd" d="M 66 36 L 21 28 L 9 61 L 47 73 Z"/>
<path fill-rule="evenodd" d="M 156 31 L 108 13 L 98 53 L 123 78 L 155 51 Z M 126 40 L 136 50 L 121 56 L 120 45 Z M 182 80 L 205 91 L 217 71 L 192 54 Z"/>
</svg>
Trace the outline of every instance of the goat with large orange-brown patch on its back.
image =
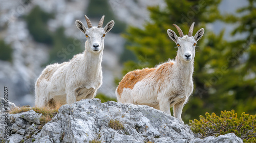
<svg viewBox="0 0 256 143">
<path fill-rule="evenodd" d="M 116 96 L 118 102 L 148 105 L 168 114 L 174 106 L 174 116 L 182 121 L 182 108 L 193 91 L 195 47 L 204 29 L 193 37 L 194 23 L 185 36 L 177 25 L 174 26 L 180 37 L 170 29 L 167 33 L 178 46 L 176 59 L 155 68 L 130 71 L 119 83 Z"/>
</svg>

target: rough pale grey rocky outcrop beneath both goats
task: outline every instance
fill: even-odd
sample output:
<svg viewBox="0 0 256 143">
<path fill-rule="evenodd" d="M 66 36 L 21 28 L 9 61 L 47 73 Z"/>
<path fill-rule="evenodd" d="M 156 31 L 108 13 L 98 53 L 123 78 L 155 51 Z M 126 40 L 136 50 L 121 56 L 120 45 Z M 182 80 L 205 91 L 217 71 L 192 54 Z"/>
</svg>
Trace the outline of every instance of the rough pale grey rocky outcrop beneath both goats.
<svg viewBox="0 0 256 143">
<path fill-rule="evenodd" d="M 243 142 L 232 133 L 196 138 L 188 125 L 152 107 L 98 99 L 61 106 L 42 129 L 39 118 L 33 110 L 9 114 L 10 142 Z M 3 114 L 1 128 L 2 121 Z"/>
</svg>

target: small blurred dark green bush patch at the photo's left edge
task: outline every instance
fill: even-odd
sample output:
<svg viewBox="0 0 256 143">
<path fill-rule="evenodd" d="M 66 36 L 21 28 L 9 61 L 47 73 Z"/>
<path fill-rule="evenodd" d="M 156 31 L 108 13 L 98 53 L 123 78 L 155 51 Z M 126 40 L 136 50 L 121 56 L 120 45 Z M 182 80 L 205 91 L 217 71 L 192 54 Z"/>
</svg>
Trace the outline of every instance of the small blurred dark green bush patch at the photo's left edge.
<svg viewBox="0 0 256 143">
<path fill-rule="evenodd" d="M 0 47 L 0 60 L 12 61 L 12 47 L 2 39 L 0 40 Z"/>
</svg>

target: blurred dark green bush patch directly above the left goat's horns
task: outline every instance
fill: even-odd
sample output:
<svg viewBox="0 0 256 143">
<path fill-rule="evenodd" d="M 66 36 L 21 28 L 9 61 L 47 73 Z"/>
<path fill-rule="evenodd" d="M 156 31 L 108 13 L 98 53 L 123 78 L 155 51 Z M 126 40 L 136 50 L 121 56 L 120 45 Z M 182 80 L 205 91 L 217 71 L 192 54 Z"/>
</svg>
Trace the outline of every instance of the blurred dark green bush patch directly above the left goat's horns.
<svg viewBox="0 0 256 143">
<path fill-rule="evenodd" d="M 87 16 L 92 18 L 100 19 L 103 15 L 105 15 L 103 27 L 106 25 L 107 22 L 114 20 L 115 26 L 111 30 L 113 33 L 121 33 L 125 30 L 125 23 L 118 20 L 111 9 L 111 6 L 108 1 L 102 0 L 91 0 L 86 11 Z"/>
</svg>

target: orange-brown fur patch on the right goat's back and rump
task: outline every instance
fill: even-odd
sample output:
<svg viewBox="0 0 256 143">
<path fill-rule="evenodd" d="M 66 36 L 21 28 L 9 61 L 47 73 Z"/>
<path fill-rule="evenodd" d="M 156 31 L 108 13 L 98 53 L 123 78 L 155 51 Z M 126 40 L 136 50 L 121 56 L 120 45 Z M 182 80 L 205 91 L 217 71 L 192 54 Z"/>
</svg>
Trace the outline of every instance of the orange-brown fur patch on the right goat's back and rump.
<svg viewBox="0 0 256 143">
<path fill-rule="evenodd" d="M 130 71 L 120 81 L 117 87 L 117 93 L 120 96 L 123 92 L 123 88 L 133 89 L 134 85 L 137 82 L 143 80 L 148 74 L 152 73 L 155 70 L 156 70 L 155 68 L 144 68 L 144 69 L 137 69 L 135 71 Z"/>
</svg>

